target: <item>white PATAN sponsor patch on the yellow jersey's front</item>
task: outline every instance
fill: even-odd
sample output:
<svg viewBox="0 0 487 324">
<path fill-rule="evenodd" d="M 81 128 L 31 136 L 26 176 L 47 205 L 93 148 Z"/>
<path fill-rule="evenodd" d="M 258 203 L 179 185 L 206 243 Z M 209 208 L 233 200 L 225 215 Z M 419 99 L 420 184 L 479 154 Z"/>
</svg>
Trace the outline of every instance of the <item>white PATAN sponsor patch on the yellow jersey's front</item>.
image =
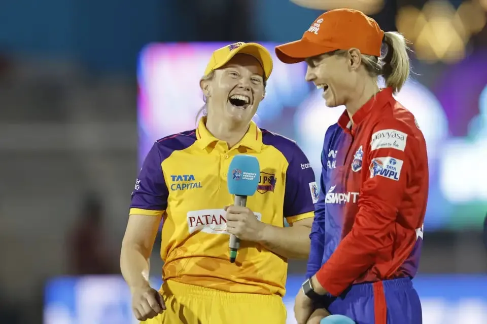
<svg viewBox="0 0 487 324">
<path fill-rule="evenodd" d="M 211 234 L 228 234 L 225 214 L 226 212 L 223 209 L 203 209 L 188 212 L 186 219 L 189 233 L 201 231 Z M 262 215 L 260 213 L 254 212 L 254 215 L 258 221 L 261 221 Z"/>
</svg>

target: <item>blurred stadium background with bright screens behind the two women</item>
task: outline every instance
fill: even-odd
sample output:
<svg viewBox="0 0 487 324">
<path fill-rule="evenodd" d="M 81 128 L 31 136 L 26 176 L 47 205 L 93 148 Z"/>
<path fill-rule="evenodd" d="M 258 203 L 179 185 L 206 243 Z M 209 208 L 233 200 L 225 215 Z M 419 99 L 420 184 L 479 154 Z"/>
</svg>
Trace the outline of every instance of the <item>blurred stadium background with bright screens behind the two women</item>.
<svg viewBox="0 0 487 324">
<path fill-rule="evenodd" d="M 399 99 L 430 159 L 416 280 L 425 323 L 487 322 L 487 0 L 296 3 L 319 10 L 289 0 L 0 2 L 1 323 L 134 323 L 118 261 L 133 181 L 154 139 L 194 128 L 211 51 L 234 41 L 272 50 L 345 6 L 412 43 L 415 74 Z M 197 43 L 165 44 L 174 42 Z M 316 100 L 302 65 L 275 61 L 268 87 L 258 124 L 297 140 L 319 176 L 322 135 L 341 110 Z M 290 263 L 288 305 L 304 269 Z"/>
</svg>

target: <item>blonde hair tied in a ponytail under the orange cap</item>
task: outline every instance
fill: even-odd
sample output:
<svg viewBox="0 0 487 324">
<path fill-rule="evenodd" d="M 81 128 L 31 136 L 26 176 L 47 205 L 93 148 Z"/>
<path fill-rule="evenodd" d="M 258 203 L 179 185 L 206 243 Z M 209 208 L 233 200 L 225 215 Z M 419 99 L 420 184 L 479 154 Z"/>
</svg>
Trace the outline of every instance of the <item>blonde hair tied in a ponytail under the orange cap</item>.
<svg viewBox="0 0 487 324">
<path fill-rule="evenodd" d="M 384 57 L 362 54 L 362 63 L 370 75 L 374 77 L 381 75 L 386 81 L 386 86 L 397 93 L 409 77 L 410 64 L 407 55 L 409 48 L 404 36 L 395 31 L 384 33 L 384 44 L 387 46 Z M 347 51 L 338 50 L 334 53 L 344 55 Z"/>
</svg>

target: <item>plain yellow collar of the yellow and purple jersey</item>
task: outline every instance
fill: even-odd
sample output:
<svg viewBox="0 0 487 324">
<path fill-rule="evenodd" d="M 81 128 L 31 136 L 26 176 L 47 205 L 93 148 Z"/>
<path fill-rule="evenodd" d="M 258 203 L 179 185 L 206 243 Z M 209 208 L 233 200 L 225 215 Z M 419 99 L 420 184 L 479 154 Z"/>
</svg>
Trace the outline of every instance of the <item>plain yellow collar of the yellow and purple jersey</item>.
<svg viewBox="0 0 487 324">
<path fill-rule="evenodd" d="M 206 129 L 206 126 L 204 125 L 205 121 L 206 117 L 202 117 L 199 120 L 198 128 L 196 129 L 197 143 L 201 149 L 205 149 L 211 144 L 219 141 L 210 133 L 210 131 Z M 239 146 L 248 147 L 256 152 L 260 152 L 262 150 L 262 131 L 257 127 L 254 121 L 250 122 L 247 133 L 233 148 L 238 148 Z"/>
</svg>

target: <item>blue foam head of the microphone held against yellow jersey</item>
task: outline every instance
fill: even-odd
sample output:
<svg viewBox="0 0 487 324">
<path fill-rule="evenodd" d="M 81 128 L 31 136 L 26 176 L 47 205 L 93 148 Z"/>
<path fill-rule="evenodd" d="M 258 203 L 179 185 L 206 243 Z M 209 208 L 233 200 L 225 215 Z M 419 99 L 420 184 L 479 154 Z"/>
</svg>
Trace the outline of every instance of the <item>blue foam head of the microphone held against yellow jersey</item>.
<svg viewBox="0 0 487 324">
<path fill-rule="evenodd" d="M 228 191 L 238 196 L 252 196 L 259 185 L 260 166 L 255 156 L 235 155 L 227 173 Z"/>
</svg>

